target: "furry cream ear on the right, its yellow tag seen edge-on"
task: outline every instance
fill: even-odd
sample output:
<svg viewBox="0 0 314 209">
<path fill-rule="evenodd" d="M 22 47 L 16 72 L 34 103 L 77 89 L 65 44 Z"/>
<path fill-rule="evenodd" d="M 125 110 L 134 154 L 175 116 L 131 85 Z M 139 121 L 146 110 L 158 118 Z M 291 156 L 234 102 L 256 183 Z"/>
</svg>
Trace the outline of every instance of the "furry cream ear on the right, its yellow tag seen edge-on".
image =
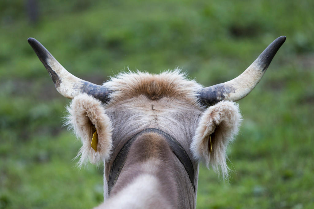
<svg viewBox="0 0 314 209">
<path fill-rule="evenodd" d="M 228 177 L 226 148 L 238 132 L 241 120 L 241 113 L 235 102 L 218 102 L 203 112 L 192 138 L 191 151 L 194 157 L 205 161 L 207 167 L 210 163 L 215 171 L 220 169 L 224 179 Z"/>
</svg>

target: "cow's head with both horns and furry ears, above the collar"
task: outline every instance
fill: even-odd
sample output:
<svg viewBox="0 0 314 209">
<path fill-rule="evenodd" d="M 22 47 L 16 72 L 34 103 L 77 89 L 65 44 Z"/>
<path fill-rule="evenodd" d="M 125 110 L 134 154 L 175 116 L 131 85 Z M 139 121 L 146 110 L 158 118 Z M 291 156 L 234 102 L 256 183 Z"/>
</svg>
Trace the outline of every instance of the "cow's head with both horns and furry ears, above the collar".
<svg viewBox="0 0 314 209">
<path fill-rule="evenodd" d="M 196 170 L 198 161 L 203 160 L 226 177 L 226 147 L 241 122 L 235 101 L 257 85 L 285 39 L 275 39 L 238 77 L 209 87 L 187 79 L 179 70 L 159 75 L 121 73 L 100 86 L 70 74 L 36 39 L 29 38 L 28 42 L 57 91 L 73 99 L 67 123 L 83 142 L 79 164 L 108 162 L 108 179 L 119 150 L 145 128 L 158 128 L 174 136 Z M 91 147 L 93 133 L 97 133 L 98 142 Z"/>
</svg>

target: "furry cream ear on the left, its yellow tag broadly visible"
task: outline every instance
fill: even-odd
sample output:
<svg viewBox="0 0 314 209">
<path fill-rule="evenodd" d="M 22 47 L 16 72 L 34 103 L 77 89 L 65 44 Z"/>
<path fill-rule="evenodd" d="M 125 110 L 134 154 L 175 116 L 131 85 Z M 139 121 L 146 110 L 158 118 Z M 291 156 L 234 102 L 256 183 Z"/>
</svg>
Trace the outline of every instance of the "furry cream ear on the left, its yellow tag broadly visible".
<svg viewBox="0 0 314 209">
<path fill-rule="evenodd" d="M 76 157 L 81 155 L 78 162 L 79 167 L 85 165 L 89 160 L 93 164 L 101 160 L 109 159 L 111 141 L 111 121 L 105 114 L 105 108 L 101 102 L 87 94 L 80 94 L 73 98 L 70 107 L 67 107 L 68 117 L 66 125 L 73 128 L 74 133 L 82 140 L 82 147 Z M 97 129 L 98 144 L 97 152 L 91 148 L 93 133 Z"/>
</svg>

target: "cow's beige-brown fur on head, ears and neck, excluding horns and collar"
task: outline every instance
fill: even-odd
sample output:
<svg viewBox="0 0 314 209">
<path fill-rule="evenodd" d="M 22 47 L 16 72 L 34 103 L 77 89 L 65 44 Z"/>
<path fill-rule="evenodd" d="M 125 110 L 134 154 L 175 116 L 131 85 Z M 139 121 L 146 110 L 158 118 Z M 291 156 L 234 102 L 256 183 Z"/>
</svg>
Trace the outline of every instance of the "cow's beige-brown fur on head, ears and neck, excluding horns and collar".
<svg viewBox="0 0 314 209">
<path fill-rule="evenodd" d="M 103 86 L 113 92 L 107 104 L 82 94 L 74 97 L 68 108 L 68 124 L 83 142 L 79 164 L 86 160 L 105 163 L 105 201 L 97 208 L 193 208 L 200 160 L 227 177 L 226 147 L 241 122 L 234 102 L 204 107 L 197 97 L 202 86 L 178 70 L 159 75 L 121 73 Z M 90 147 L 95 128 L 99 136 L 97 152 Z M 196 191 L 165 139 L 157 133 L 145 133 L 131 145 L 108 196 L 107 180 L 113 160 L 129 138 L 146 128 L 158 128 L 179 141 L 192 160 Z"/>
</svg>

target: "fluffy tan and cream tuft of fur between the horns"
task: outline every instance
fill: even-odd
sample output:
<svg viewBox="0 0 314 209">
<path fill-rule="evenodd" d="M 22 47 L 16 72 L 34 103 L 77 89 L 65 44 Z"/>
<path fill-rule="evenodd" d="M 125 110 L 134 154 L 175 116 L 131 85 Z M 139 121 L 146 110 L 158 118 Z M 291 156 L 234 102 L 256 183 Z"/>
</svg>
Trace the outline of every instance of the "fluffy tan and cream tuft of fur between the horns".
<svg viewBox="0 0 314 209">
<path fill-rule="evenodd" d="M 151 100 L 171 97 L 197 108 L 202 106 L 197 97 L 202 86 L 194 80 L 189 80 L 187 75 L 178 69 L 160 74 L 140 71 L 120 73 L 111 77 L 103 86 L 113 91 L 110 104 L 146 95 Z"/>
</svg>

